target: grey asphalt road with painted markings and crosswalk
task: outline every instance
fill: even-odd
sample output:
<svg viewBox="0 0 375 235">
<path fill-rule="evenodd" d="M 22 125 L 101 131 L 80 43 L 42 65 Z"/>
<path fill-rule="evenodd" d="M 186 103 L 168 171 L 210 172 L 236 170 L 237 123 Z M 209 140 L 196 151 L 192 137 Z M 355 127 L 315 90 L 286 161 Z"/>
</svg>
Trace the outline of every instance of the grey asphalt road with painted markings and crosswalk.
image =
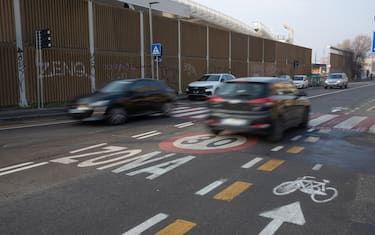
<svg viewBox="0 0 375 235">
<path fill-rule="evenodd" d="M 375 234 L 374 87 L 305 89 L 311 128 L 276 144 L 211 136 L 190 101 L 0 127 L 0 234 Z"/>
</svg>

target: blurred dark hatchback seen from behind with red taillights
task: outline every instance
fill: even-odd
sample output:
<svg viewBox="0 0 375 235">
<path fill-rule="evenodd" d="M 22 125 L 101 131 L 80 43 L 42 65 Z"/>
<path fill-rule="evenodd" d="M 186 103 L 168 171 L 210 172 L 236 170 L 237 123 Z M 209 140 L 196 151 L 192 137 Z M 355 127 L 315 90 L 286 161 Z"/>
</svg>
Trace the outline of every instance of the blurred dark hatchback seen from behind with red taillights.
<svg viewBox="0 0 375 235">
<path fill-rule="evenodd" d="M 237 78 L 227 81 L 207 100 L 208 129 L 266 134 L 282 138 L 290 127 L 307 127 L 310 102 L 292 83 L 277 77 Z"/>
</svg>

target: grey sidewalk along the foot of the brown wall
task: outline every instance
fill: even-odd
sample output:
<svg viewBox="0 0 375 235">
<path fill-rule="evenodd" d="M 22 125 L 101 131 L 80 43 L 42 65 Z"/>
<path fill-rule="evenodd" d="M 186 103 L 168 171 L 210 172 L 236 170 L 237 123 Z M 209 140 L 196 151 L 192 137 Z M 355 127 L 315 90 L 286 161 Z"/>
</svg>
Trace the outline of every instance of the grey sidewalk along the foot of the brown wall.
<svg viewBox="0 0 375 235">
<path fill-rule="evenodd" d="M 186 95 L 178 95 L 178 100 L 186 99 Z M 0 124 L 10 121 L 26 121 L 40 118 L 68 117 L 67 107 L 49 107 L 44 109 L 11 108 L 0 109 Z"/>
</svg>

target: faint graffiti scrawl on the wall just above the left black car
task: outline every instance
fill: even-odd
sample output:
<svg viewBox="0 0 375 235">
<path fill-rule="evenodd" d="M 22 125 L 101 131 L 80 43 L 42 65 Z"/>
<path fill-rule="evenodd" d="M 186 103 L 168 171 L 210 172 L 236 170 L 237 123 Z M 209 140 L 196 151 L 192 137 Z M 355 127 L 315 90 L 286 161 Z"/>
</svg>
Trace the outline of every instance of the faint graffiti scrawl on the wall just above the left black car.
<svg viewBox="0 0 375 235">
<path fill-rule="evenodd" d="M 134 73 L 137 68 L 131 63 L 104 64 L 105 76 L 108 80 L 126 79 L 129 73 Z"/>
</svg>

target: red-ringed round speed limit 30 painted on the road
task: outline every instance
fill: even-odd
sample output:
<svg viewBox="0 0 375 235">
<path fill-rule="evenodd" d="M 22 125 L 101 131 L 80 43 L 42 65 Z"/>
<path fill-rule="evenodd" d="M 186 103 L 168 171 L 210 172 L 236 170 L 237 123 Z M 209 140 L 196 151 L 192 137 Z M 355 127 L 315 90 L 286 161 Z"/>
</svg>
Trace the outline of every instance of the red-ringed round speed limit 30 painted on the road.
<svg viewBox="0 0 375 235">
<path fill-rule="evenodd" d="M 240 135 L 212 135 L 197 133 L 170 138 L 159 144 L 165 151 L 191 154 L 232 152 L 248 148 L 257 143 L 256 139 Z"/>
</svg>

